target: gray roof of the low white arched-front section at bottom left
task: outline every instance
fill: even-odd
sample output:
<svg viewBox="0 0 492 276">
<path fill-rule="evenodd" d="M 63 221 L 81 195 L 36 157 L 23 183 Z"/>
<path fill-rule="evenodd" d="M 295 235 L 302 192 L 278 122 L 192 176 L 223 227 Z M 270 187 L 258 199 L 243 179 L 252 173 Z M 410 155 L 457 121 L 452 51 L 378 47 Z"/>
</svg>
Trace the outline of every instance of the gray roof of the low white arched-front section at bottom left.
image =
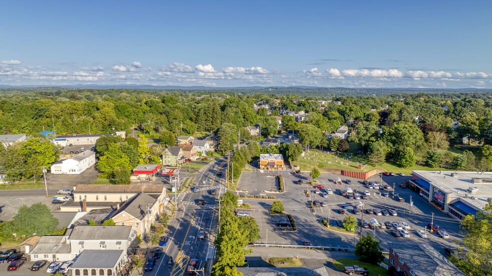
<svg viewBox="0 0 492 276">
<path fill-rule="evenodd" d="M 117 266 L 124 250 L 89 250 L 78 255 L 71 269 L 112 269 Z"/>
</svg>

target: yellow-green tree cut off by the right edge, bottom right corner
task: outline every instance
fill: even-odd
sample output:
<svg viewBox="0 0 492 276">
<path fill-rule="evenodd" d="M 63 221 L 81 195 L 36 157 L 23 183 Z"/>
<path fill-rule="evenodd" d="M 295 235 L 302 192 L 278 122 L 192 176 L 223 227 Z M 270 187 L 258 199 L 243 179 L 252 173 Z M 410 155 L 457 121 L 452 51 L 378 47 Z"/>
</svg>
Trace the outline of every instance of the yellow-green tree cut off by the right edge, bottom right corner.
<svg viewBox="0 0 492 276">
<path fill-rule="evenodd" d="M 465 216 L 461 228 L 464 231 L 463 247 L 469 249 L 462 256 L 462 265 L 492 271 L 492 203 L 487 203 L 476 215 Z"/>
</svg>

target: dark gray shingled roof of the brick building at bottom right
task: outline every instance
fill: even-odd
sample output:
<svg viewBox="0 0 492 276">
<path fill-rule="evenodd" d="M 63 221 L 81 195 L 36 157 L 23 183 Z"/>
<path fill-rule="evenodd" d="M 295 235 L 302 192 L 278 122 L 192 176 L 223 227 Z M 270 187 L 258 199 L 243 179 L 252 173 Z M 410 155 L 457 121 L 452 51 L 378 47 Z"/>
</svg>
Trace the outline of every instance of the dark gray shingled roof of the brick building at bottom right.
<svg viewBox="0 0 492 276">
<path fill-rule="evenodd" d="M 411 268 L 415 276 L 465 276 L 428 244 L 390 243 L 389 248 Z"/>
</svg>

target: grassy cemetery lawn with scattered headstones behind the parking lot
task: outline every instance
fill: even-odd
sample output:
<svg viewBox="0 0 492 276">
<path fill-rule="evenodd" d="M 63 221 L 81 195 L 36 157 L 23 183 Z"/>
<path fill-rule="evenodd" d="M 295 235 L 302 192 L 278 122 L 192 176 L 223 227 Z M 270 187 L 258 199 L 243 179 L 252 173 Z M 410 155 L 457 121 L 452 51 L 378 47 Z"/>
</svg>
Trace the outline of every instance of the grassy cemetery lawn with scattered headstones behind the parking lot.
<svg viewBox="0 0 492 276">
<path fill-rule="evenodd" d="M 451 151 L 452 152 L 452 151 Z M 412 170 L 420 171 L 446 171 L 444 168 L 429 168 L 425 166 L 415 165 L 410 168 L 399 168 L 392 162 L 385 162 L 379 166 L 371 166 L 368 163 L 365 154 L 338 153 L 330 154 L 319 152 L 317 149 L 311 149 L 299 160 L 293 161 L 291 165 L 300 166 L 301 171 L 311 171 L 313 168 L 319 168 L 320 171 L 325 171 L 323 168 L 335 170 L 349 170 L 354 172 L 367 172 L 372 169 L 383 169 L 386 172 L 410 174 Z M 357 165 L 361 164 L 362 169 L 357 169 Z"/>
</svg>

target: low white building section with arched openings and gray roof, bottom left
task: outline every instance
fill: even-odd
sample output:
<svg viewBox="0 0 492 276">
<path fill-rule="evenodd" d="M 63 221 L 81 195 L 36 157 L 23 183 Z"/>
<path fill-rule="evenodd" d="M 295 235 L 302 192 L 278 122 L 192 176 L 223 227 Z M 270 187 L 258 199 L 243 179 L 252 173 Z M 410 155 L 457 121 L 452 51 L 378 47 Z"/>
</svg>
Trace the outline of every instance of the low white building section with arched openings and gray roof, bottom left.
<svg viewBox="0 0 492 276">
<path fill-rule="evenodd" d="M 70 267 L 73 276 L 116 276 L 127 262 L 124 250 L 84 250 Z"/>
</svg>

